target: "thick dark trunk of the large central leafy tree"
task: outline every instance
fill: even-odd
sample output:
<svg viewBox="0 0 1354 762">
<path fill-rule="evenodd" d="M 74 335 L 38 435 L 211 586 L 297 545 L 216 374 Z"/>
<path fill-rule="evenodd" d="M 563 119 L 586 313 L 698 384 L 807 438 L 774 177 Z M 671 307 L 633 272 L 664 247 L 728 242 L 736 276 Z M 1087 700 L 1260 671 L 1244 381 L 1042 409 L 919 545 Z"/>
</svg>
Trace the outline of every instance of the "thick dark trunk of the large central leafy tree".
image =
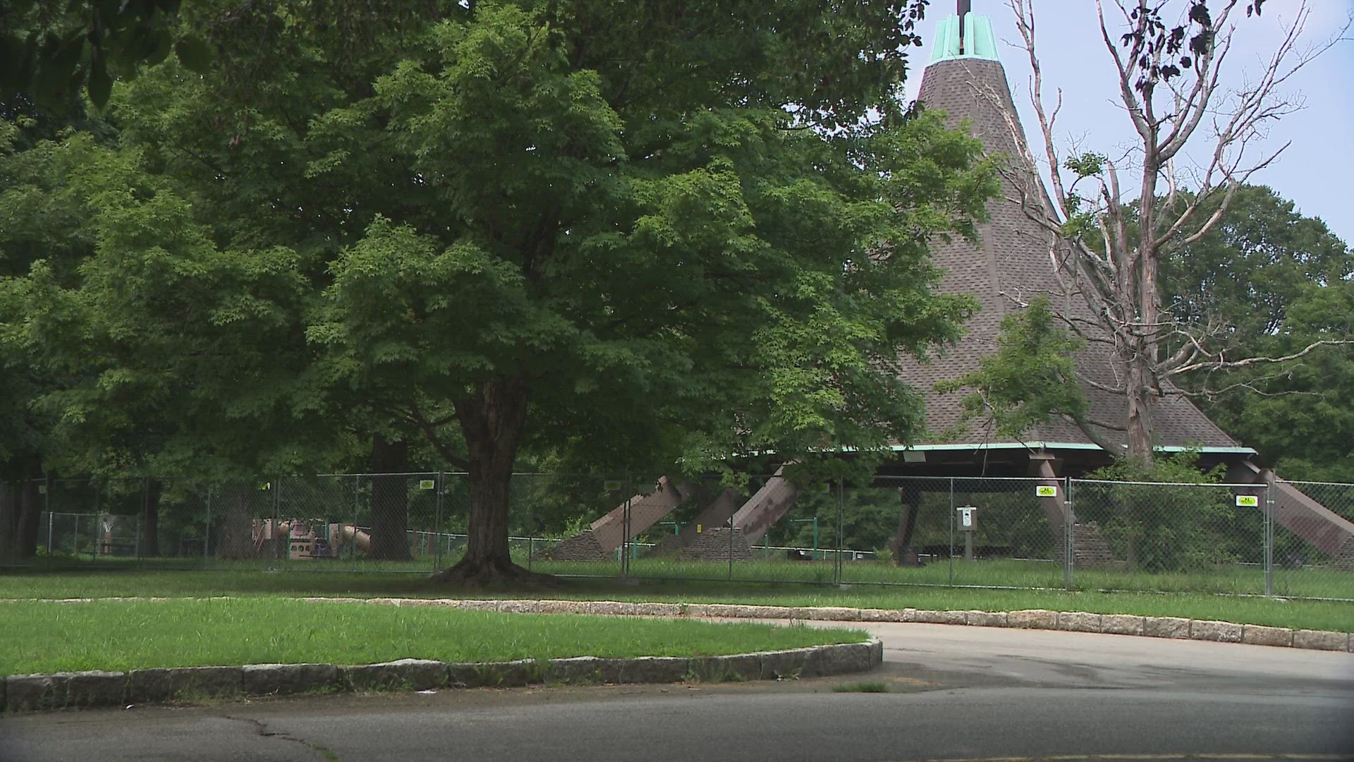
<svg viewBox="0 0 1354 762">
<path fill-rule="evenodd" d="M 508 552 L 509 489 L 527 424 L 525 381 L 483 381 L 455 404 L 470 453 L 470 522 L 466 555 L 436 579 L 467 587 L 554 584 L 552 576 L 515 564 Z"/>
</svg>

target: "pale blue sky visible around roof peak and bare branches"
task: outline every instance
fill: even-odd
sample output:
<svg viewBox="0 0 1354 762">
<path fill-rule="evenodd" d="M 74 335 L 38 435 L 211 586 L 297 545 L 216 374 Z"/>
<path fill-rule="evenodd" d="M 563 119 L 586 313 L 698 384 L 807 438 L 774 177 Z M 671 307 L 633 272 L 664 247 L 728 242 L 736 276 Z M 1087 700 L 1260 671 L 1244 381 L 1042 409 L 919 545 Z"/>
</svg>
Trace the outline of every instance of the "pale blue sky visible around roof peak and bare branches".
<svg viewBox="0 0 1354 762">
<path fill-rule="evenodd" d="M 1055 125 L 1059 151 L 1066 152 L 1079 144 L 1083 151 L 1109 156 L 1121 153 L 1136 133 L 1122 106 L 1113 100 L 1117 79 L 1099 38 L 1094 0 L 1033 1 L 1045 102 L 1052 104 L 1056 88 L 1063 91 L 1063 110 Z M 1304 38 L 1309 43 L 1330 41 L 1354 16 L 1354 0 L 1308 0 L 1308 4 L 1311 16 Z M 1020 35 L 1014 15 L 1006 0 L 972 0 L 972 5 L 975 14 L 992 19 L 1011 95 L 1026 136 L 1033 137 L 1039 122 L 1029 99 L 1029 58 L 1024 49 L 1017 47 Z M 1106 0 L 1108 14 L 1109 5 L 1112 0 Z M 1224 85 L 1240 85 L 1247 76 L 1254 77 L 1263 71 L 1263 61 L 1278 46 L 1297 7 L 1298 0 L 1269 0 L 1259 19 L 1244 18 L 1244 9 L 1239 14 L 1232 52 L 1224 66 Z M 953 12 L 952 0 L 932 0 L 926 20 L 918 27 L 923 46 L 913 53 L 909 99 L 915 98 L 922 66 L 930 62 L 936 23 Z M 1281 197 L 1292 199 L 1298 212 L 1320 217 L 1332 232 L 1354 245 L 1354 30 L 1343 37 L 1285 83 L 1281 92 L 1300 99 L 1304 107 L 1274 122 L 1266 145 L 1270 151 L 1289 141 L 1292 145 L 1273 165 L 1257 172 L 1251 182 L 1273 187 Z M 1202 149 L 1212 151 L 1209 138 L 1204 127 L 1196 133 L 1200 152 L 1194 156 L 1206 156 Z"/>
</svg>

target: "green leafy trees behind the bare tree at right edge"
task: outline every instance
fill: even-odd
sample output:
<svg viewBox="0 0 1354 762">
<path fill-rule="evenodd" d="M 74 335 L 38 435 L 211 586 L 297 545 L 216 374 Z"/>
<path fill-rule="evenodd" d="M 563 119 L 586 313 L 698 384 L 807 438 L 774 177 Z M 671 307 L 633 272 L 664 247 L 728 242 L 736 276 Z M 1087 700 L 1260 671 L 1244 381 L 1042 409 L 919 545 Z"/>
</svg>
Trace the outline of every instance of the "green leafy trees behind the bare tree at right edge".
<svg viewBox="0 0 1354 762">
<path fill-rule="evenodd" d="M 1265 186 L 1238 190 L 1208 235 L 1173 247 L 1162 289 L 1183 320 L 1225 325 L 1233 357 L 1285 358 L 1354 338 L 1354 251 Z M 1179 382 L 1286 479 L 1354 481 L 1354 347 L 1204 365 Z"/>
</svg>

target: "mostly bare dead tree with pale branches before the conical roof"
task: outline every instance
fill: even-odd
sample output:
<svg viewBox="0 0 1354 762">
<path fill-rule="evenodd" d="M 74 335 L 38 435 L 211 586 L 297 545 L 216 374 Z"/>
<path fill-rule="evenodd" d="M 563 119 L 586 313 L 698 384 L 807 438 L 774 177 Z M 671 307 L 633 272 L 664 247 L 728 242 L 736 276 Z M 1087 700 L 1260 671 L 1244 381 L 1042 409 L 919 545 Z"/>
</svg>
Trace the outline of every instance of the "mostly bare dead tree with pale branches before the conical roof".
<svg viewBox="0 0 1354 762">
<path fill-rule="evenodd" d="M 1117 75 L 1116 99 L 1135 134 L 1127 151 L 1110 157 L 1059 151 L 1055 123 L 1063 92 L 1057 91 L 1049 110 L 1034 45 L 1034 0 L 1007 0 L 1007 5 L 1029 56 L 1037 142 L 1048 165 L 1047 191 L 1037 171 L 1010 172 L 1007 179 L 1018 197 L 1011 201 L 1045 230 L 1067 298 L 1085 300 L 1094 316 L 1064 310 L 1068 327 L 1089 342 L 1112 347 L 1116 382 L 1095 385 L 1124 396 L 1132 456 L 1151 462 L 1154 401 L 1175 392 L 1173 376 L 1285 362 L 1323 346 L 1354 343 L 1347 338 L 1320 340 L 1282 358 L 1231 357 L 1224 347 L 1228 327 L 1177 319 L 1162 304 L 1158 281 L 1162 252 L 1208 233 L 1236 188 L 1288 148 L 1263 145 L 1275 121 L 1301 108 L 1300 99 L 1284 92 L 1285 85 L 1349 24 L 1328 41 L 1309 45 L 1304 30 L 1311 7 L 1304 0 L 1259 76 L 1228 88 L 1223 72 L 1229 68 L 1238 33 L 1233 18 L 1240 9 L 1251 15 L 1252 3 L 1181 0 L 1181 18 L 1187 20 L 1170 30 L 1160 20 L 1170 0 L 1095 0 L 1099 37 Z M 1026 165 L 1037 167 L 1014 119 L 1011 129 Z M 1205 214 L 1204 209 L 1212 212 Z"/>
</svg>

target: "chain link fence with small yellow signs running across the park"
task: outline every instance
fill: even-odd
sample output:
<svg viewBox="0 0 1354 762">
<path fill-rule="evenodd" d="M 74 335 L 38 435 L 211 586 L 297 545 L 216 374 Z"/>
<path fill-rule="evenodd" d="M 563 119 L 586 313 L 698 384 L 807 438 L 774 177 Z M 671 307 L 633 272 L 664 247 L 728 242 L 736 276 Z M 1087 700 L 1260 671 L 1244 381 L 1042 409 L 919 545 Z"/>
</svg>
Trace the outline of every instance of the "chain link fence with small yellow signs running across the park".
<svg viewBox="0 0 1354 762">
<path fill-rule="evenodd" d="M 429 574 L 464 553 L 470 510 L 445 472 L 42 480 L 0 492 L 0 565 Z M 1350 519 L 1354 485 L 1309 481 L 520 473 L 508 534 L 562 576 L 1354 601 Z"/>
</svg>

